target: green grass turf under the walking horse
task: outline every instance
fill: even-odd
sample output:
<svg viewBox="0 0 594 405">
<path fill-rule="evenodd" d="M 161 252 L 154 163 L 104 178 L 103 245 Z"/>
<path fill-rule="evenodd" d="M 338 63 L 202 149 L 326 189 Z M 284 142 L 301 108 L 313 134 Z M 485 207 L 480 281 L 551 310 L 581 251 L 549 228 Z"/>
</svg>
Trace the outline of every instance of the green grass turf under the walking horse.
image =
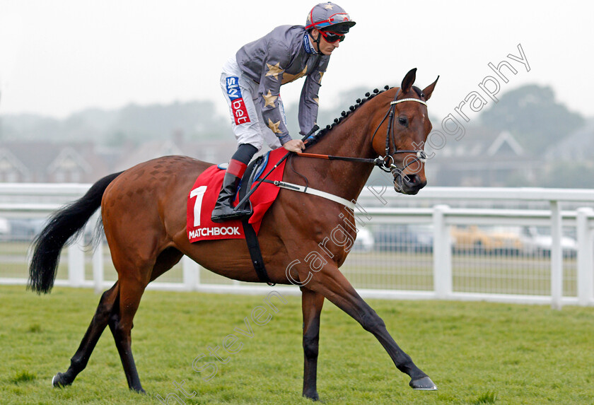
<svg viewBox="0 0 594 405">
<path fill-rule="evenodd" d="M 271 288 L 273 290 L 274 288 Z M 0 403 L 160 404 L 177 393 L 185 404 L 309 404 L 301 397 L 301 300 L 257 326 L 250 314 L 262 296 L 148 291 L 134 319 L 136 366 L 147 395 L 127 389 L 106 329 L 71 387 L 50 386 L 76 351 L 98 295 L 54 288 L 37 296 L 0 286 Z M 325 303 L 320 331 L 318 393 L 322 404 L 592 404 L 593 307 L 369 300 L 388 331 L 438 392 L 415 392 L 378 341 L 344 312 Z M 251 322 L 254 337 L 221 364 L 206 346 L 222 346 Z M 233 346 L 237 348 L 238 346 Z M 219 354 L 223 349 L 219 350 Z M 218 372 L 192 370 L 214 360 Z M 211 370 L 211 369 L 209 369 Z M 188 399 L 174 382 L 184 381 Z M 169 404 L 177 403 L 173 399 Z"/>
</svg>

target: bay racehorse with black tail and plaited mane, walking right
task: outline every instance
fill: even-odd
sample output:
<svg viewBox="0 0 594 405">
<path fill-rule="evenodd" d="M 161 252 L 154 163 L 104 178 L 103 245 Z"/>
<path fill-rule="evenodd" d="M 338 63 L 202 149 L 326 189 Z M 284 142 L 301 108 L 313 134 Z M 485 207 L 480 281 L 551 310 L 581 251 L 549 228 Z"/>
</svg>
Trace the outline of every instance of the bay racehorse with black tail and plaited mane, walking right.
<svg viewBox="0 0 594 405">
<path fill-rule="evenodd" d="M 425 186 L 424 142 L 431 131 L 426 100 L 437 80 L 424 90 L 413 86 L 417 69 L 404 76 L 400 88 L 374 90 L 365 100 L 310 146 L 313 154 L 339 155 L 354 161 L 307 158 L 292 154 L 292 170 L 284 182 L 303 183 L 349 201 L 356 200 L 373 169 L 382 162 L 392 173 L 395 189 L 417 194 Z M 386 134 L 385 137 L 383 134 Z M 420 149 L 419 150 L 419 146 Z M 378 158 L 378 155 L 380 158 Z M 409 160 L 413 158 L 414 165 Z M 409 163 L 406 163 L 406 162 Z M 37 293 L 50 292 L 62 247 L 81 232 L 101 207 L 103 228 L 110 246 L 117 281 L 100 298 L 91 324 L 66 372 L 52 379 L 54 387 L 71 385 L 88 363 L 95 344 L 109 325 L 120 354 L 129 388 L 144 392 L 132 357 L 132 319 L 148 283 L 161 276 L 185 254 L 216 274 L 239 281 L 259 282 L 245 240 L 206 240 L 190 243 L 186 230 L 186 204 L 197 176 L 211 166 L 185 156 L 164 156 L 99 180 L 88 192 L 50 218 L 34 241 L 28 286 Z M 263 218 L 258 239 L 268 276 L 273 283 L 301 285 L 303 310 L 303 396 L 318 399 L 316 374 L 320 312 L 324 300 L 347 312 L 370 331 L 392 358 L 398 370 L 411 378 L 414 389 L 437 389 L 388 333 L 383 320 L 356 293 L 339 267 L 347 258 L 344 247 L 327 243 L 328 260 L 312 273 L 308 264 L 291 266 L 318 248 L 330 230 L 344 218 L 354 223 L 354 211 L 330 199 L 281 189 Z M 346 229 L 346 228 L 345 228 Z M 356 231 L 347 229 L 354 240 Z"/>
</svg>

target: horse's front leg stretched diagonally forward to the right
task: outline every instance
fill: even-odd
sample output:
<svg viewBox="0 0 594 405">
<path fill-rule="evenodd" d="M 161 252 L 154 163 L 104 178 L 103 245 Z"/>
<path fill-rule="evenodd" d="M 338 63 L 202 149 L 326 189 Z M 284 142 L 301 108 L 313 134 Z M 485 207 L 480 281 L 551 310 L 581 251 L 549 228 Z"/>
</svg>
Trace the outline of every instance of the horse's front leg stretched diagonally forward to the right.
<svg viewBox="0 0 594 405">
<path fill-rule="evenodd" d="M 370 331 L 380 341 L 380 344 L 382 344 L 385 350 L 388 351 L 390 358 L 392 358 L 398 370 L 405 372 L 411 377 L 409 385 L 412 388 L 437 389 L 433 381 L 396 344 L 392 336 L 388 333 L 388 329 L 385 328 L 383 320 L 363 301 L 363 298 L 361 298 L 336 266 L 332 266 L 330 263 L 324 266 L 321 271 L 313 276 L 307 287 L 324 295 L 334 305 L 337 305 L 337 307 L 351 315 L 351 317 L 361 324 L 363 329 Z"/>
</svg>

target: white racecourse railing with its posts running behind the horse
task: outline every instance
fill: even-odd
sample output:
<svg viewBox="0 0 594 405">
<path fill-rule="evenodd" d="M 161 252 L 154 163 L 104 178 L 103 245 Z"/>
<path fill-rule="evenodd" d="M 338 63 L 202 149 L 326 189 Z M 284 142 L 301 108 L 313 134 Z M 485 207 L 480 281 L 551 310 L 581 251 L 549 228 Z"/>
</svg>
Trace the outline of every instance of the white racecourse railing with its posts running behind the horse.
<svg viewBox="0 0 594 405">
<path fill-rule="evenodd" d="M 91 184 L 0 184 L 0 216 L 47 216 L 66 202 L 82 196 Z M 427 187 L 417 196 L 401 197 L 407 201 L 440 201 L 431 208 L 387 208 L 385 204 L 397 198 L 388 188 L 368 187 L 359 203 L 371 217 L 369 224 L 423 223 L 433 225 L 433 290 L 376 290 L 358 288 L 367 298 L 490 300 L 506 303 L 549 303 L 562 305 L 594 305 L 594 190 L 540 188 Z M 459 209 L 443 201 L 540 201 L 549 209 Z M 561 211 L 561 204 L 583 203 L 573 211 Z M 430 204 L 431 205 L 431 204 Z M 383 207 L 384 206 L 384 207 Z M 89 221 L 91 225 L 94 221 Z M 552 249 L 550 257 L 550 295 L 516 295 L 465 293 L 453 289 L 450 225 L 498 225 L 515 223 L 550 226 Z M 575 227 L 578 241 L 577 296 L 563 295 L 562 228 Z M 57 280 L 57 286 L 94 287 L 101 291 L 110 286 L 104 281 L 103 246 L 93 253 L 93 280 L 84 276 L 85 254 L 78 245 L 68 248 L 67 280 Z M 182 261 L 182 283 L 151 283 L 150 288 L 162 290 L 198 290 L 220 293 L 265 293 L 269 287 L 255 284 L 233 285 L 201 283 L 199 267 L 187 257 Z M 0 284 L 24 284 L 25 278 L 1 278 Z M 294 286 L 276 286 L 288 294 L 298 294 Z"/>
</svg>

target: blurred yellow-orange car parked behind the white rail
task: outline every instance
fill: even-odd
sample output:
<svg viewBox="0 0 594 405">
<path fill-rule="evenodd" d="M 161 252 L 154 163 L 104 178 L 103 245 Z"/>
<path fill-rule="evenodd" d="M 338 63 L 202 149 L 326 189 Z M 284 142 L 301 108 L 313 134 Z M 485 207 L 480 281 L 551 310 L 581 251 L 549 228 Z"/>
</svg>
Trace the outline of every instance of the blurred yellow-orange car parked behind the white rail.
<svg viewBox="0 0 594 405">
<path fill-rule="evenodd" d="M 523 244 L 517 230 L 505 227 L 452 226 L 450 235 L 455 252 L 518 253 Z"/>
</svg>

